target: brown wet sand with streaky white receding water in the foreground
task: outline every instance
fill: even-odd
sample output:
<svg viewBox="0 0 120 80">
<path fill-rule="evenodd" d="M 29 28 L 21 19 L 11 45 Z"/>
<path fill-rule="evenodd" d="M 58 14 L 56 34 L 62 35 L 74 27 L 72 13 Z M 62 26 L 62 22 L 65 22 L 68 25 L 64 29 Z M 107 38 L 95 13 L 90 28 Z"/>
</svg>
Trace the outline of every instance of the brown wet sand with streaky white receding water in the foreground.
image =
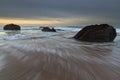
<svg viewBox="0 0 120 80">
<path fill-rule="evenodd" d="M 120 50 L 35 39 L 0 45 L 0 80 L 119 80 Z"/>
</svg>

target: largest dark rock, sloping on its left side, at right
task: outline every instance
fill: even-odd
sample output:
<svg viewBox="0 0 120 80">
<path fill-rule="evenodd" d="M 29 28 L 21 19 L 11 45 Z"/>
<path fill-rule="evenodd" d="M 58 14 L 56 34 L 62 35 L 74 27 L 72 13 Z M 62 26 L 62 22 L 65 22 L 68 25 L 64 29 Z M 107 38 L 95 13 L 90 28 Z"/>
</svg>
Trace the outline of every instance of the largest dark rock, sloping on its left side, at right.
<svg viewBox="0 0 120 80">
<path fill-rule="evenodd" d="M 116 37 L 116 29 L 108 24 L 89 25 L 80 30 L 74 38 L 87 42 L 111 42 Z"/>
</svg>

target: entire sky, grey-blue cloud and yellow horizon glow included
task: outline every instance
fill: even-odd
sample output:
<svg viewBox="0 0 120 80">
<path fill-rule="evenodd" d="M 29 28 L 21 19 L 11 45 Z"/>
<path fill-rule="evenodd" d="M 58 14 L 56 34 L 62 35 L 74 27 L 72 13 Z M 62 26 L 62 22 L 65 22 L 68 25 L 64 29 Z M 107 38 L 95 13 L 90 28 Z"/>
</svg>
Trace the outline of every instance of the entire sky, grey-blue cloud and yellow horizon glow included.
<svg viewBox="0 0 120 80">
<path fill-rule="evenodd" d="M 120 0 L 0 0 L 0 25 L 120 24 Z"/>
</svg>

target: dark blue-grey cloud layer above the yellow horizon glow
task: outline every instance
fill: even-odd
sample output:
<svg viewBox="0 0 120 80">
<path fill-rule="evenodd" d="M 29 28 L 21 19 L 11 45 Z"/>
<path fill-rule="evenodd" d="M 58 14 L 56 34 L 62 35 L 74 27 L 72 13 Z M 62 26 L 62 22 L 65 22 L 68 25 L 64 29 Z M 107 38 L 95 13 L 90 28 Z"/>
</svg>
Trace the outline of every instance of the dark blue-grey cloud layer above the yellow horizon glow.
<svg viewBox="0 0 120 80">
<path fill-rule="evenodd" d="M 38 20 L 87 17 L 118 22 L 119 3 L 120 0 L 1 0 L 0 17 Z"/>
</svg>

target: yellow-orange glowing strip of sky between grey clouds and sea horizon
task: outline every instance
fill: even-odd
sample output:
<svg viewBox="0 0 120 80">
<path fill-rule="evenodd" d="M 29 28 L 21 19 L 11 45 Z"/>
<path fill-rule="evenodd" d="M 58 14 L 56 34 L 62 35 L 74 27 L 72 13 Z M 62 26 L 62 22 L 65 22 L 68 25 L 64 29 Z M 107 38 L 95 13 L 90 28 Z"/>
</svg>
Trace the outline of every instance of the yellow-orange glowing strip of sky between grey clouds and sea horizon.
<svg viewBox="0 0 120 80">
<path fill-rule="evenodd" d="M 4 26 L 6 24 L 18 24 L 23 26 L 57 26 L 57 25 L 88 25 L 88 24 L 100 24 L 100 23 L 119 23 L 119 21 L 110 19 L 95 19 L 95 18 L 68 18 L 68 19 L 10 19 L 10 18 L 0 18 L 0 25 Z"/>
</svg>

